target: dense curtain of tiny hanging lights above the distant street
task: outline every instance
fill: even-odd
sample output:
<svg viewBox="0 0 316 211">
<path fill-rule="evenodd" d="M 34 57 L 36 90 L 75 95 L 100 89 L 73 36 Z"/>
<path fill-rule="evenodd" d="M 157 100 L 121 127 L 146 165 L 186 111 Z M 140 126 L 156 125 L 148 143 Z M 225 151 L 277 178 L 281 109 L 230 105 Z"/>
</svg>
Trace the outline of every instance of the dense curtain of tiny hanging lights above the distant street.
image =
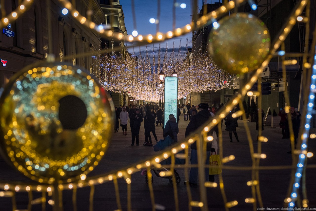
<svg viewBox="0 0 316 211">
<path fill-rule="evenodd" d="M 178 73 L 178 99 L 190 92 L 216 91 L 233 86 L 233 76 L 220 69 L 208 51 L 202 53 L 200 50 L 192 55 L 192 59 L 184 59 L 180 47 L 178 55 L 175 55 L 174 42 L 169 57 L 167 49 L 166 45 L 162 67 L 160 63 L 155 63 L 155 52 L 150 56 L 147 48 L 144 58 L 139 50 L 137 60 L 135 54 L 126 59 L 116 54 L 95 57 L 95 60 L 100 60 L 100 70 L 96 77 L 106 90 L 129 92 L 131 97 L 149 102 L 158 102 L 160 95 L 163 95 L 164 85 L 160 87 L 158 75 L 161 70 L 165 76 L 171 76 L 173 71 Z M 160 54 L 161 48 L 158 50 L 158 62 Z"/>
</svg>

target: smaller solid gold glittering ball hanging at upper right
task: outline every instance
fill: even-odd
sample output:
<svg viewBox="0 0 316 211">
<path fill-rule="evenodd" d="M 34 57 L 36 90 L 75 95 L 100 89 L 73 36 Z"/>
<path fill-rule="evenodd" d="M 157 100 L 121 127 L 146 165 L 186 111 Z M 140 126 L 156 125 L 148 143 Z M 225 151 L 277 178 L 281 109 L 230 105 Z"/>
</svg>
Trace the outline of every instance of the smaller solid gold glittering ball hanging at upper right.
<svg viewBox="0 0 316 211">
<path fill-rule="evenodd" d="M 209 36 L 215 63 L 232 73 L 258 69 L 269 53 L 270 35 L 257 17 L 237 13 L 224 17 Z"/>
</svg>

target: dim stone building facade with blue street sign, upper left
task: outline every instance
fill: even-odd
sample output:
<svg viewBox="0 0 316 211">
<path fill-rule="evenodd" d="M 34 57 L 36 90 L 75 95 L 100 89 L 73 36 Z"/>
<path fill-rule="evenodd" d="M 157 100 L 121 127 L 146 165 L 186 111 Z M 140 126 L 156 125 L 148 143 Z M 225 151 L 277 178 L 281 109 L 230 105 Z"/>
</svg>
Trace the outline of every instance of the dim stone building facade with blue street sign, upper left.
<svg viewBox="0 0 316 211">
<path fill-rule="evenodd" d="M 18 0 L 5 1 L 6 14 L 19 6 Z M 92 20 L 100 24 L 104 13 L 96 0 L 76 0 L 76 9 L 82 14 L 93 11 Z M 100 36 L 84 27 L 71 15 L 62 14 L 62 5 L 57 0 L 50 2 L 52 34 L 48 34 L 46 1 L 34 1 L 32 7 L 9 27 L 4 29 L 14 32 L 14 36 L 0 34 L 0 58 L 7 61 L 0 66 L 0 86 L 7 84 L 10 77 L 23 67 L 44 61 L 49 47 L 56 61 L 68 62 L 87 69 L 93 74 L 91 56 L 76 58 L 77 54 L 88 53 L 100 46 Z M 48 46 L 52 39 L 52 46 Z M 64 57 L 70 59 L 64 60 Z"/>
</svg>

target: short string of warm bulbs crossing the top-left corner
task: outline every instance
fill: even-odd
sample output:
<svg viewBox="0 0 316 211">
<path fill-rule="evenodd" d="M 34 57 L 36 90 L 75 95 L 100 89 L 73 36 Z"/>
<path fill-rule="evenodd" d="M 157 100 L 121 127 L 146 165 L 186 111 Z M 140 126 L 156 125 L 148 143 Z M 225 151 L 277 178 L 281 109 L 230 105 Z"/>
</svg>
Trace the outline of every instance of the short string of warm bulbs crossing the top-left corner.
<svg viewBox="0 0 316 211">
<path fill-rule="evenodd" d="M 23 13 L 25 13 L 28 9 L 31 8 L 34 0 L 24 0 L 14 11 L 12 11 L 6 17 L 3 17 L 0 21 L 0 29 L 8 26 L 9 23 L 14 22 L 18 19 Z M 1 5 L 4 7 L 4 5 Z"/>
</svg>

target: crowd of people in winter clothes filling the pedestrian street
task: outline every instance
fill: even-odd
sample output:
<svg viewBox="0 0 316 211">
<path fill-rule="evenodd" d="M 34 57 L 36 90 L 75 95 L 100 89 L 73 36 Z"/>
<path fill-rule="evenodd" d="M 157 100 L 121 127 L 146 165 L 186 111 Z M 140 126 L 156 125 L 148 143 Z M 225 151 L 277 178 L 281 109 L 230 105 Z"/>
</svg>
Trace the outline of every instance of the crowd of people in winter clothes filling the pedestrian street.
<svg viewBox="0 0 316 211">
<path fill-rule="evenodd" d="M 179 133 L 179 116 L 181 113 L 184 114 L 184 121 L 190 121 L 185 130 L 185 137 L 189 136 L 191 132 L 195 131 L 198 127 L 203 125 L 206 121 L 210 120 L 210 118 L 214 117 L 215 114 L 222 109 L 224 105 L 218 104 L 216 107 L 214 105 L 209 106 L 207 103 L 200 103 L 199 105 L 182 105 L 183 111 L 180 112 L 181 105 L 178 105 L 177 117 L 174 117 L 173 114 L 170 114 L 167 118 L 168 121 L 166 125 L 163 125 L 164 121 L 164 111 L 163 107 L 159 107 L 157 104 L 147 104 L 147 105 L 129 105 L 129 106 L 115 106 L 116 113 L 116 124 L 114 125 L 114 132 L 119 131 L 119 125 L 122 127 L 123 135 L 127 135 L 127 124 L 128 119 L 130 119 L 130 128 L 131 128 L 131 146 L 136 145 L 139 146 L 139 131 L 141 127 L 141 123 L 144 122 L 144 136 L 145 142 L 144 146 L 153 146 L 151 133 L 155 138 L 155 141 L 158 142 L 155 127 L 164 126 L 163 127 L 163 137 L 166 138 L 170 136 L 170 138 L 174 141 L 178 141 L 178 133 Z M 224 118 L 225 121 L 225 130 L 229 132 L 230 142 L 233 142 L 233 133 L 237 142 L 240 142 L 236 127 L 238 127 L 238 118 L 234 117 L 234 113 L 238 111 L 238 107 L 234 107 L 232 111 Z M 294 107 L 290 108 L 290 115 L 287 115 L 284 110 L 280 110 L 279 116 L 281 117 L 280 127 L 282 128 L 282 138 L 289 138 L 289 124 L 288 118 L 291 117 L 292 129 L 294 132 L 294 140 L 296 145 L 296 139 L 298 137 L 299 126 L 300 126 L 300 118 L 301 114 Z M 259 118 L 260 117 L 260 118 Z M 254 118 L 256 120 L 256 130 L 264 130 L 264 111 L 259 108 L 255 114 Z M 120 123 L 119 123 L 120 119 Z M 221 126 L 223 121 L 219 123 Z M 209 131 L 209 135 L 215 136 L 215 140 L 207 143 L 206 147 L 206 161 L 205 164 L 208 164 L 210 154 L 217 152 L 217 138 L 218 138 L 218 128 L 214 127 Z M 259 138 L 259 132 L 257 136 L 257 141 Z M 288 153 L 291 153 L 289 151 Z M 191 156 L 190 156 L 191 164 L 197 164 L 197 144 L 194 142 L 191 145 Z M 198 178 L 198 169 L 191 168 L 189 181 L 187 181 L 190 185 L 197 185 Z M 205 180 L 214 182 L 214 175 L 209 174 L 209 170 L 205 170 Z"/>
</svg>

